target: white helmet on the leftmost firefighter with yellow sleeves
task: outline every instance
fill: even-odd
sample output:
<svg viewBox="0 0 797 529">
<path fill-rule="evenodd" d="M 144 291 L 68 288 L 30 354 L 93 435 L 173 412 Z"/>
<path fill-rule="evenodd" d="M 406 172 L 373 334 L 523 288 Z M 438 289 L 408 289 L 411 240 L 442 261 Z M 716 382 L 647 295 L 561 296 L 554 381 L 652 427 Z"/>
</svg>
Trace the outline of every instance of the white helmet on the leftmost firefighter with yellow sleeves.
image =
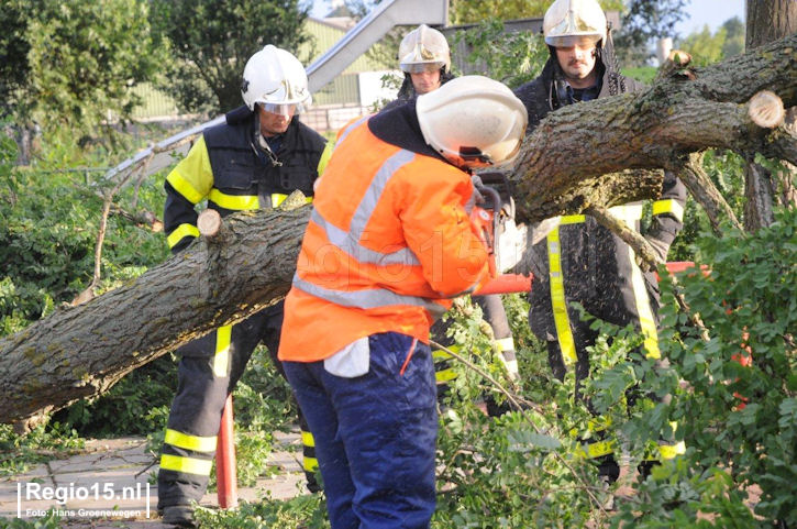
<svg viewBox="0 0 797 529">
<path fill-rule="evenodd" d="M 261 103 L 275 108 L 298 106 L 301 111 L 312 102 L 305 67 L 290 52 L 272 44 L 246 62 L 241 95 L 250 110 Z"/>
</svg>

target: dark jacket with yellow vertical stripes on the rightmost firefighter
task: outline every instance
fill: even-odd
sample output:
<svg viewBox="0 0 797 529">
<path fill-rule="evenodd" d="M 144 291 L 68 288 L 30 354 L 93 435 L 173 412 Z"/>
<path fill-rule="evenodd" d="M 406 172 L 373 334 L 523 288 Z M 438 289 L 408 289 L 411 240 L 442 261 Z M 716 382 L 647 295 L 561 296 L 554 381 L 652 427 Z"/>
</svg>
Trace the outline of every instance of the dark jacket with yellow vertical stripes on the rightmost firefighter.
<svg viewBox="0 0 797 529">
<path fill-rule="evenodd" d="M 598 98 L 637 91 L 642 87 L 605 67 L 600 59 L 596 67 L 601 74 Z M 569 87 L 560 78 L 558 65 L 552 56 L 536 79 L 516 90 L 529 112 L 528 132 L 552 110 L 574 102 Z M 584 100 L 589 98 L 595 98 L 595 93 Z M 674 175 L 665 174 L 661 196 L 653 203 L 653 220 L 643 233 L 663 260 L 683 225 L 685 200 L 684 185 Z M 641 203 L 611 208 L 611 212 L 640 231 Z M 584 214 L 562 217 L 561 225 L 547 240 L 534 246 L 532 269 L 531 329 L 540 339 L 558 341 L 565 362 L 575 361 L 573 335 L 567 335 L 567 328 L 568 322 L 578 322 L 579 315 L 569 306 L 572 301 L 578 301 L 589 313 L 619 326 L 639 322 L 643 335 L 649 338 L 645 340 L 647 354 L 657 357 L 655 321 L 650 321 L 655 320 L 658 304 L 655 278 L 652 274 L 643 277 L 628 244 L 594 218 Z M 645 290 L 651 301 L 650 309 L 644 310 L 649 312 L 646 315 L 639 310 L 640 301 L 643 301 L 640 296 Z"/>
</svg>

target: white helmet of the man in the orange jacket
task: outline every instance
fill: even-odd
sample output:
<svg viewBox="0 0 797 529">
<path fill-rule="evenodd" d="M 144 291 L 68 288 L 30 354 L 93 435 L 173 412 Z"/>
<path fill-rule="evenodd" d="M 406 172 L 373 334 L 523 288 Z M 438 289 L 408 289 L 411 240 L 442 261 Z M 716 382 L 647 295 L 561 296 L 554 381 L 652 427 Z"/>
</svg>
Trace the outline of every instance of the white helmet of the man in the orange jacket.
<svg viewBox="0 0 797 529">
<path fill-rule="evenodd" d="M 512 90 L 468 75 L 418 96 L 423 140 L 460 168 L 510 163 L 520 150 L 529 118 Z"/>
</svg>

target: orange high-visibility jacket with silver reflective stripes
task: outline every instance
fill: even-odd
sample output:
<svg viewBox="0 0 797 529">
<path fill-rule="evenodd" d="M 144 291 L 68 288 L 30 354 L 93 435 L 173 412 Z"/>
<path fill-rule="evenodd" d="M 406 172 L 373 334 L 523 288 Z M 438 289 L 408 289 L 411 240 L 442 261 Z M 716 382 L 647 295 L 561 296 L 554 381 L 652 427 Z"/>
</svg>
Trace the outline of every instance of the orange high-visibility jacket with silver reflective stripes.
<svg viewBox="0 0 797 529">
<path fill-rule="evenodd" d="M 468 174 L 380 140 L 365 119 L 344 130 L 318 180 L 279 359 L 323 360 L 387 331 L 428 342 L 451 298 L 489 279 L 473 194 Z"/>
</svg>

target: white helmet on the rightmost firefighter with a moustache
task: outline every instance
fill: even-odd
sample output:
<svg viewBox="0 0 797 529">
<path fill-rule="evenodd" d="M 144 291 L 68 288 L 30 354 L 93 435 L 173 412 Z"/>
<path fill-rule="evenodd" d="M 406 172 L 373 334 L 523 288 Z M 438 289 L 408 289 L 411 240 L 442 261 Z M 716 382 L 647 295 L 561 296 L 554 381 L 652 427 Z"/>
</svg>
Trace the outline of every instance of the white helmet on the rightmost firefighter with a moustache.
<svg viewBox="0 0 797 529">
<path fill-rule="evenodd" d="M 596 0 L 556 0 L 545 11 L 542 33 L 550 46 L 573 46 L 580 38 L 606 42 L 606 14 Z"/>
</svg>

